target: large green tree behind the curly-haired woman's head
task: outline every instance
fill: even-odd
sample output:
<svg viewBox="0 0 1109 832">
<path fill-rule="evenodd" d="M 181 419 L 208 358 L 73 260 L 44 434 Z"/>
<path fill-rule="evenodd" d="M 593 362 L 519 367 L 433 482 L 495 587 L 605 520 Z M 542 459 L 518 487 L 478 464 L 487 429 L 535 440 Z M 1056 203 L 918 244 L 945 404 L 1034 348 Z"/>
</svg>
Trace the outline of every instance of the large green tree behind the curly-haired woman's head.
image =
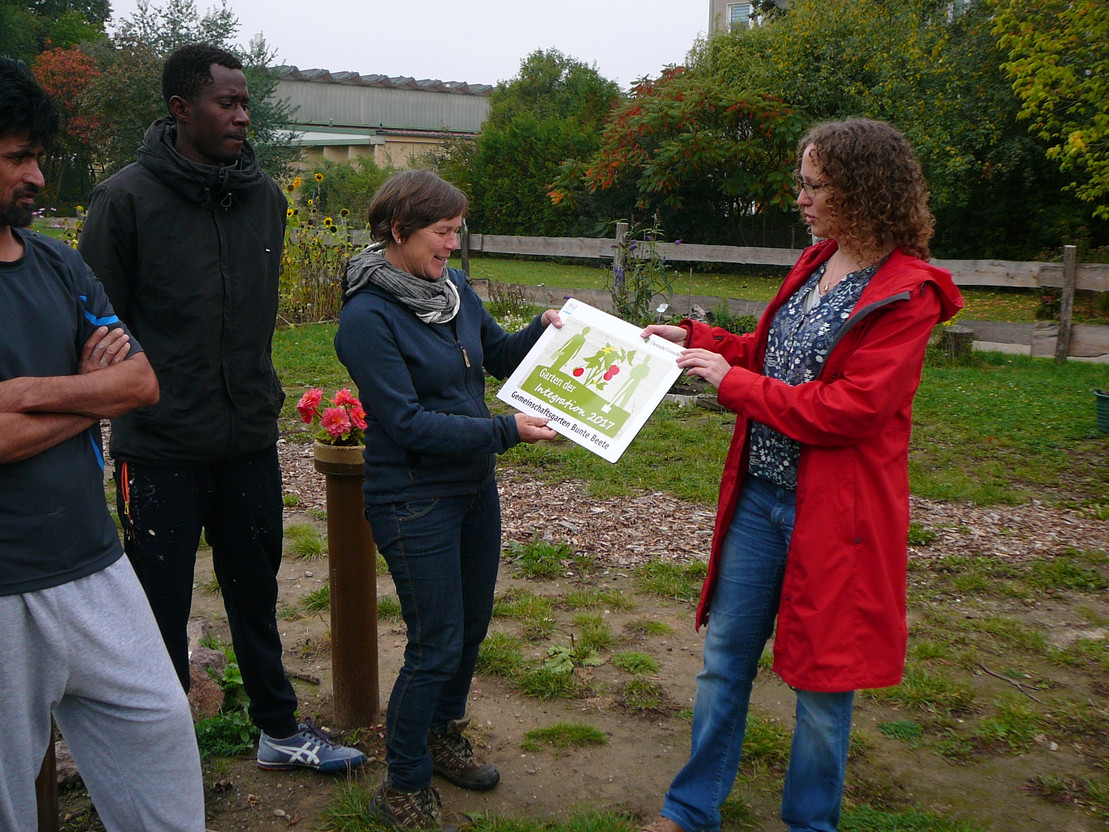
<svg viewBox="0 0 1109 832">
<path fill-rule="evenodd" d="M 942 256 L 1036 256 L 1090 219 L 1017 122 L 995 0 L 792 0 L 762 26 L 698 44 L 691 73 L 777 95 L 810 120 L 889 121 L 932 189 Z"/>
</svg>

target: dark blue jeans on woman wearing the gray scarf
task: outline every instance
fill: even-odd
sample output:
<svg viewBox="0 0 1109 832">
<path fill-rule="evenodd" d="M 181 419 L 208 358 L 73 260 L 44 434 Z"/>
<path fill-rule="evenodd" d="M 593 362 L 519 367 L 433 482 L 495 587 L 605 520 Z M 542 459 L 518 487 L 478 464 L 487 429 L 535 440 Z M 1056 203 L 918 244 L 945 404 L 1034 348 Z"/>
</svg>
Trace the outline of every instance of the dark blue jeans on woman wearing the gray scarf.
<svg viewBox="0 0 1109 832">
<path fill-rule="evenodd" d="M 431 782 L 428 730 L 466 716 L 478 648 L 492 616 L 500 564 L 500 496 L 489 477 L 475 495 L 366 507 L 408 628 L 405 663 L 386 713 L 394 789 Z"/>
</svg>

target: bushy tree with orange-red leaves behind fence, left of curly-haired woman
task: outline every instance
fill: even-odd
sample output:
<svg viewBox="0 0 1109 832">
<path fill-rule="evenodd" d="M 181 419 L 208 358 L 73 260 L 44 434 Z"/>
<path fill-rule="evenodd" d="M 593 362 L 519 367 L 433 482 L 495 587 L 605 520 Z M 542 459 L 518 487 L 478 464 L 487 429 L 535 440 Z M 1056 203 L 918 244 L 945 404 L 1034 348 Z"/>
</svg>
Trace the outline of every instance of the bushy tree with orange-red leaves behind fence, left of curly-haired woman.
<svg viewBox="0 0 1109 832">
<path fill-rule="evenodd" d="M 790 222 L 804 123 L 772 97 L 669 70 L 613 112 L 597 153 L 563 166 L 551 199 L 612 190 L 671 236 L 742 245 L 754 219 Z"/>
</svg>

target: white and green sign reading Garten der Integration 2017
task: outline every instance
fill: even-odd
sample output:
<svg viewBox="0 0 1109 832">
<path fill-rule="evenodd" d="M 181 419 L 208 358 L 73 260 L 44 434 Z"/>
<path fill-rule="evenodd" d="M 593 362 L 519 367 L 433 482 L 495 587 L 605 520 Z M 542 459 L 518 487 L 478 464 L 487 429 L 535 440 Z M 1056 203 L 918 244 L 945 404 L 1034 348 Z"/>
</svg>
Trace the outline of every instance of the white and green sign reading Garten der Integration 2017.
<svg viewBox="0 0 1109 832">
<path fill-rule="evenodd" d="M 617 461 L 681 374 L 682 347 L 570 298 L 497 397 Z"/>
</svg>

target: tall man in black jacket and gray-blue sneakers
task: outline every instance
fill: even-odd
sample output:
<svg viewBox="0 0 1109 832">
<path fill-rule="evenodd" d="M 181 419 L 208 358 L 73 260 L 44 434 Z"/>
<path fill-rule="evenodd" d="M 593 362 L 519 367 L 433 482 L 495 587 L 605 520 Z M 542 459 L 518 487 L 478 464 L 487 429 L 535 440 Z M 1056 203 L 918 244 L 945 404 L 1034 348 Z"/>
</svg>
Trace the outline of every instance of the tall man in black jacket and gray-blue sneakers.
<svg viewBox="0 0 1109 832">
<path fill-rule="evenodd" d="M 124 546 L 182 686 L 196 547 L 203 530 L 232 642 L 262 730 L 258 765 L 322 771 L 366 757 L 297 723 L 282 666 L 277 415 L 271 357 L 285 197 L 246 141 L 242 63 L 204 44 L 166 59 L 170 116 L 139 161 L 92 194 L 80 251 L 157 374 L 157 405 L 112 422 Z"/>
</svg>

